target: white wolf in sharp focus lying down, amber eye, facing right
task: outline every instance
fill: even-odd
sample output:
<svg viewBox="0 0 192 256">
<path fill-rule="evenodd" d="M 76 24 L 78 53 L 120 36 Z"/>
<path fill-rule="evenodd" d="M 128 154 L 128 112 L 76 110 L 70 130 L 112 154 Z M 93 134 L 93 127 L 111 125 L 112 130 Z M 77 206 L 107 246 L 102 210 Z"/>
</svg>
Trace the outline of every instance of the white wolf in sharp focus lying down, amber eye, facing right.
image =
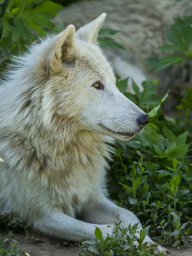
<svg viewBox="0 0 192 256">
<path fill-rule="evenodd" d="M 96 44 L 105 16 L 31 46 L 0 88 L 1 211 L 73 241 L 139 222 L 106 196 L 111 137 L 128 140 L 150 118 L 116 88 Z"/>
</svg>

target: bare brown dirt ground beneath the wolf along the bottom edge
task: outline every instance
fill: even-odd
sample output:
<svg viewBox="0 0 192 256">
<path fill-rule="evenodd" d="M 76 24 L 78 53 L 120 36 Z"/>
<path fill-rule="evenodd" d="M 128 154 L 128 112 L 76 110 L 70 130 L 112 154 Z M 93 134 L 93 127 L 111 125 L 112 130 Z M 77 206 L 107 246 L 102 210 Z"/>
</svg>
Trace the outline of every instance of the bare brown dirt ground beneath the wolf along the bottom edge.
<svg viewBox="0 0 192 256">
<path fill-rule="evenodd" d="M 2 235 L 5 235 L 1 232 Z M 37 242 L 27 243 L 24 233 L 15 233 L 14 239 L 19 243 L 20 248 L 26 248 L 30 256 L 78 256 L 79 248 L 75 243 L 67 242 L 61 239 L 50 238 L 39 233 L 33 233 Z M 167 247 L 172 256 L 192 256 L 192 246 L 188 248 L 181 247 L 179 250 L 173 247 Z"/>
</svg>

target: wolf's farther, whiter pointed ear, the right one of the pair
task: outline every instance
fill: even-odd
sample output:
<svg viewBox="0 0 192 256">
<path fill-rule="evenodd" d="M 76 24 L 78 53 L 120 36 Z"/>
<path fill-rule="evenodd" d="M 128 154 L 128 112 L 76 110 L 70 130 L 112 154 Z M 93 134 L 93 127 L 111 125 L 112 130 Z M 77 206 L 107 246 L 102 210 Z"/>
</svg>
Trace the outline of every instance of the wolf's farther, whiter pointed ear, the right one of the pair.
<svg viewBox="0 0 192 256">
<path fill-rule="evenodd" d="M 79 28 L 77 37 L 87 42 L 96 42 L 99 29 L 101 28 L 106 17 L 106 13 L 102 13 L 97 19 Z"/>
</svg>

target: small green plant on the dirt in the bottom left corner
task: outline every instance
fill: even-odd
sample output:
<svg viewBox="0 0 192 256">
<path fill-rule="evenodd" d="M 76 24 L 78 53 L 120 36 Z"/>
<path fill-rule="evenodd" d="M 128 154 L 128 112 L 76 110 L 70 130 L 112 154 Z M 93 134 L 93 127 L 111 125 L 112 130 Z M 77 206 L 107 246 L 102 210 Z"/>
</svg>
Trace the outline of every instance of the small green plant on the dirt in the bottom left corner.
<svg viewBox="0 0 192 256">
<path fill-rule="evenodd" d="M 5 237 L 0 234 L 0 256 L 22 256 L 25 252 L 18 248 L 18 242 L 13 239 L 14 235 L 11 231 Z"/>
</svg>

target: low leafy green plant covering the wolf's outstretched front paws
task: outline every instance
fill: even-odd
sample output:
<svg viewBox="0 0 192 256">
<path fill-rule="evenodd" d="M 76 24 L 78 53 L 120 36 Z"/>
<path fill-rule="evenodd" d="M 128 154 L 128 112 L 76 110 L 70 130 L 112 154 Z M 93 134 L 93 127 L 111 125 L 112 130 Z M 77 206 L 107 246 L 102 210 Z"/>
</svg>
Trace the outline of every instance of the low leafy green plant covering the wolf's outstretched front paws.
<svg viewBox="0 0 192 256">
<path fill-rule="evenodd" d="M 148 234 L 149 227 L 138 231 L 138 223 L 127 228 L 120 228 L 121 222 L 112 228 L 112 235 L 103 238 L 101 230 L 96 227 L 95 239 L 84 241 L 80 246 L 80 256 L 152 256 L 154 255 L 157 244 L 147 244 L 144 242 Z M 138 238 L 138 235 L 140 238 Z M 164 253 L 159 254 L 163 256 Z"/>
</svg>

